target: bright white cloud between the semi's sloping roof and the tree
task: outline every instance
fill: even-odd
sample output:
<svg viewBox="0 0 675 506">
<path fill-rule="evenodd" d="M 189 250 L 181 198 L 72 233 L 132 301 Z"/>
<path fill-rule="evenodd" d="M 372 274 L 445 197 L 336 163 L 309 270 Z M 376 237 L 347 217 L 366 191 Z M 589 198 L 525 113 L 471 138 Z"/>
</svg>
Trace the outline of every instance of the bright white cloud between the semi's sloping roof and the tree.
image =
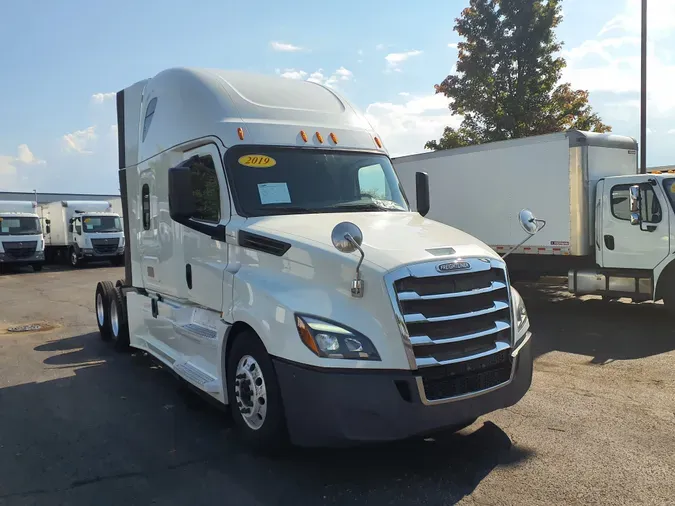
<svg viewBox="0 0 675 506">
<path fill-rule="evenodd" d="M 366 108 L 366 118 L 382 136 L 392 156 L 424 151 L 424 144 L 438 139 L 446 126 L 458 127 L 448 99 L 442 94 L 410 98 L 404 104 L 375 102 Z"/>
</svg>

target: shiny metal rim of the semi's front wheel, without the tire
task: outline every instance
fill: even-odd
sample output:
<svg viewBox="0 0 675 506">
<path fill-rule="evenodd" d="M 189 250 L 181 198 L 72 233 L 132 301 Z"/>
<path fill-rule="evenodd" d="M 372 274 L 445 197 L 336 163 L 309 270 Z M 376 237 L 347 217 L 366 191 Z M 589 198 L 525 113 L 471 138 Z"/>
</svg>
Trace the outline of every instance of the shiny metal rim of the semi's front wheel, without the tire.
<svg viewBox="0 0 675 506">
<path fill-rule="evenodd" d="M 258 430 L 267 416 L 267 388 L 260 364 L 250 355 L 239 360 L 234 380 L 234 397 L 241 417 L 252 430 Z"/>
</svg>

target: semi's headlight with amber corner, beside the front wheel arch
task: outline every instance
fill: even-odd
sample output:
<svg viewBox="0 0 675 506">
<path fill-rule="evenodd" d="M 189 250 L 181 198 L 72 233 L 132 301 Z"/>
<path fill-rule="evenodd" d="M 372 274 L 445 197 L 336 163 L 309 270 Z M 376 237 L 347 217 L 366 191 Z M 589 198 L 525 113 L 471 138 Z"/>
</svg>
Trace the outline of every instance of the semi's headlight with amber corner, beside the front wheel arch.
<svg viewBox="0 0 675 506">
<path fill-rule="evenodd" d="M 380 360 L 370 339 L 358 332 L 311 316 L 295 316 L 305 346 L 319 357 Z"/>
</svg>

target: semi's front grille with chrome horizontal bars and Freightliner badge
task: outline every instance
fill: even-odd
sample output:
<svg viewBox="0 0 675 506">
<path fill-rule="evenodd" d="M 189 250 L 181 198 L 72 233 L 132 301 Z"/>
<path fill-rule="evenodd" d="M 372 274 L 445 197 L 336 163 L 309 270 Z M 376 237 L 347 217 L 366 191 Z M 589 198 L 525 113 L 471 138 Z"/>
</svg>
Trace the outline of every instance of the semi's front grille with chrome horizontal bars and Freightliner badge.
<svg viewBox="0 0 675 506">
<path fill-rule="evenodd" d="M 488 259 L 462 262 L 463 269 L 449 272 L 437 270 L 447 261 L 413 265 L 388 280 L 428 401 L 481 392 L 511 378 L 505 267 Z"/>
</svg>

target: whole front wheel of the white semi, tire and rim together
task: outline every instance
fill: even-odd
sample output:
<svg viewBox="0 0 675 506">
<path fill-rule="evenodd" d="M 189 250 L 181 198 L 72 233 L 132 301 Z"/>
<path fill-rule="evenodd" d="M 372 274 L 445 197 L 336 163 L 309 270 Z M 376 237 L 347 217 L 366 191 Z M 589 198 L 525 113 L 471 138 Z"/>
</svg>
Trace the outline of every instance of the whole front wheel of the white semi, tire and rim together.
<svg viewBox="0 0 675 506">
<path fill-rule="evenodd" d="M 258 336 L 236 336 L 227 357 L 227 394 L 232 418 L 253 447 L 276 450 L 288 442 L 281 390 L 272 360 Z"/>
</svg>

